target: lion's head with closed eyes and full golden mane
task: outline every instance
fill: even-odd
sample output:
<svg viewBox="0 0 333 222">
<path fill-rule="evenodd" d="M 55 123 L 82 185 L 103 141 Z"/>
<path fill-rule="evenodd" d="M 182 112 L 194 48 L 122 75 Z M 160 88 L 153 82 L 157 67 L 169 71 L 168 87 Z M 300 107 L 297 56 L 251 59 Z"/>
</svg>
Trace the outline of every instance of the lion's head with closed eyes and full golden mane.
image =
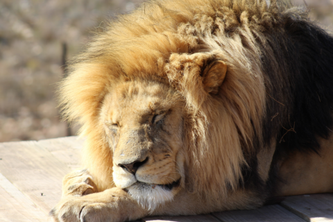
<svg viewBox="0 0 333 222">
<path fill-rule="evenodd" d="M 275 51 L 294 46 L 282 26 L 302 15 L 283 7 L 154 1 L 96 35 L 60 98 L 65 117 L 82 123 L 99 190 L 115 185 L 155 207 L 181 189 L 227 194 L 244 177 L 259 189 L 282 126 L 306 119 L 291 110 L 294 51 Z"/>
</svg>

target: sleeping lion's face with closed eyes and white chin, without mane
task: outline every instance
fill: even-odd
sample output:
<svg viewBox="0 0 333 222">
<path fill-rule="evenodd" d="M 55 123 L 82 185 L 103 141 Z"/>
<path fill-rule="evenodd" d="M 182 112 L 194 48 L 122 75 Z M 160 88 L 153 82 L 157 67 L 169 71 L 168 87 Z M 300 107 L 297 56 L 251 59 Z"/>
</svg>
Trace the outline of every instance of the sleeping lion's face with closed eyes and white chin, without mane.
<svg viewBox="0 0 333 222">
<path fill-rule="evenodd" d="M 180 187 L 183 108 L 176 91 L 144 81 L 113 87 L 103 102 L 101 121 L 113 149 L 114 183 L 150 208 L 150 203 L 172 199 Z"/>
</svg>

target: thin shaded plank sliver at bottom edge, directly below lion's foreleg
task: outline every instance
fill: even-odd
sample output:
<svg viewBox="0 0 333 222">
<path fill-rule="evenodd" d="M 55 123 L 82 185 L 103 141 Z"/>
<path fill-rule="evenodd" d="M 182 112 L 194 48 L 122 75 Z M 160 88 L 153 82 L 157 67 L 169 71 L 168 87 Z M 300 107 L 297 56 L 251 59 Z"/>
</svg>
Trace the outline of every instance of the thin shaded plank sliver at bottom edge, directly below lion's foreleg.
<svg viewBox="0 0 333 222">
<path fill-rule="evenodd" d="M 168 222 L 168 221 L 178 221 L 178 222 L 220 222 L 214 216 L 210 214 L 201 214 L 194 216 L 152 216 L 142 219 L 142 221 L 149 222 Z"/>
</svg>

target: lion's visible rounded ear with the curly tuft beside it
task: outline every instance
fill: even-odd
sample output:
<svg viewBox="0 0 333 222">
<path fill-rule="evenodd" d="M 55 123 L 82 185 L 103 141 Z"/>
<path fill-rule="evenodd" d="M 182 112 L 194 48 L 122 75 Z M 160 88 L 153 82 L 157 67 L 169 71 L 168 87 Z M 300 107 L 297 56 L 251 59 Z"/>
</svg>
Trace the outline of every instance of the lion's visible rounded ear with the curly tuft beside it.
<svg viewBox="0 0 333 222">
<path fill-rule="evenodd" d="M 227 65 L 214 53 L 173 53 L 164 67 L 170 83 L 197 108 L 209 94 L 217 94 Z"/>
</svg>

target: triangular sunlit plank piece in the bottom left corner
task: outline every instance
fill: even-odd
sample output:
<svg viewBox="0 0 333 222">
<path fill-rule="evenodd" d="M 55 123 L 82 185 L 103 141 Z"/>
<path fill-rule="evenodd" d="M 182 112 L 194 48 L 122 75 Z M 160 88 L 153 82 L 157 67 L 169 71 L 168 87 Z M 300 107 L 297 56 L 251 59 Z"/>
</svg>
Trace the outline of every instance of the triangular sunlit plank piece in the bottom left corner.
<svg viewBox="0 0 333 222">
<path fill-rule="evenodd" d="M 0 173 L 1 221 L 46 221 L 47 216 Z"/>
</svg>

